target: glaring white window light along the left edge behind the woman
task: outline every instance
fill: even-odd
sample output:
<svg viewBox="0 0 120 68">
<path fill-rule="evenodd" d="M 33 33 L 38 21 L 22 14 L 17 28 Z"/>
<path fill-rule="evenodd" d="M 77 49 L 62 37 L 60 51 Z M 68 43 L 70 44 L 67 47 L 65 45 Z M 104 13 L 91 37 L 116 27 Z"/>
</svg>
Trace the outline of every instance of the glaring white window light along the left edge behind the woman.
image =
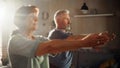
<svg viewBox="0 0 120 68">
<path fill-rule="evenodd" d="M 0 59 L 2 55 L 1 52 L 3 52 L 2 48 L 6 49 L 8 41 L 6 38 L 8 39 L 8 35 L 15 29 L 15 26 L 13 25 L 14 13 L 15 6 L 12 2 L 0 0 Z"/>
</svg>

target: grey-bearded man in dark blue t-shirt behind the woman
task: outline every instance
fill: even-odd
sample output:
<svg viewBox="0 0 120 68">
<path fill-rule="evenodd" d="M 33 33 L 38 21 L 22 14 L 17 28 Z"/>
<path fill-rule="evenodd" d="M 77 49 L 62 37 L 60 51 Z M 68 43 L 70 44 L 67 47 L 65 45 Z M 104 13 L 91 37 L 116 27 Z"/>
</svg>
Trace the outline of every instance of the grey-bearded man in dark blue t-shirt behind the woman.
<svg viewBox="0 0 120 68">
<path fill-rule="evenodd" d="M 56 28 L 51 30 L 49 32 L 49 39 L 77 39 L 81 38 L 81 40 L 87 38 L 89 35 L 72 35 L 71 33 L 67 32 L 67 27 L 70 25 L 70 16 L 68 10 L 58 10 L 54 15 L 54 22 L 56 25 Z M 98 33 L 99 35 L 106 35 L 107 33 Z M 105 37 L 105 36 L 104 36 Z M 98 44 L 104 44 L 110 40 L 110 38 L 107 38 L 107 40 L 100 40 L 98 41 Z M 70 68 L 73 54 L 71 51 L 66 51 L 57 54 L 55 57 L 49 57 L 50 58 L 50 68 Z"/>
</svg>

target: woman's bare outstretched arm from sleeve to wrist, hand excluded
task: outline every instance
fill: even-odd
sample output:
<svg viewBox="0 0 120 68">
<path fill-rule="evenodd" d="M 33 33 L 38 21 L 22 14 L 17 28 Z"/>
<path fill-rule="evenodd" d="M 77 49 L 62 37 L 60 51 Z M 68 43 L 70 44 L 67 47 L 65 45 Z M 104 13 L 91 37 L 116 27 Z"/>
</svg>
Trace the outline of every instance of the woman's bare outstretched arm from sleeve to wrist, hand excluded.
<svg viewBox="0 0 120 68">
<path fill-rule="evenodd" d="M 80 41 L 68 41 L 68 40 L 51 40 L 48 42 L 41 43 L 38 46 L 38 49 L 36 51 L 36 55 L 44 55 L 47 53 L 56 54 L 68 50 L 73 50 L 79 48 L 79 46 L 82 46 L 81 44 L 78 46 Z"/>
</svg>

